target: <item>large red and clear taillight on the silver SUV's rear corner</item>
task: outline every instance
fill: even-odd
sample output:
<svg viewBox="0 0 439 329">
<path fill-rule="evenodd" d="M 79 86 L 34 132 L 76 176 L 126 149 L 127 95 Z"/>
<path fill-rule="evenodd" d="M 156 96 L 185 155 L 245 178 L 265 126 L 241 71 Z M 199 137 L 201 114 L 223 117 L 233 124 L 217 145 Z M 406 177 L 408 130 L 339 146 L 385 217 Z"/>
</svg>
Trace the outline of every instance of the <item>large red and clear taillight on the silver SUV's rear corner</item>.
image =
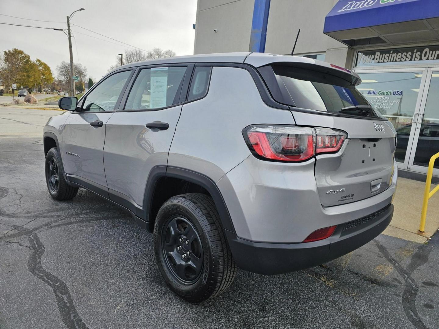
<svg viewBox="0 0 439 329">
<path fill-rule="evenodd" d="M 328 128 L 253 125 L 244 130 L 253 154 L 275 161 L 304 161 L 315 154 L 337 152 L 345 132 Z"/>
</svg>

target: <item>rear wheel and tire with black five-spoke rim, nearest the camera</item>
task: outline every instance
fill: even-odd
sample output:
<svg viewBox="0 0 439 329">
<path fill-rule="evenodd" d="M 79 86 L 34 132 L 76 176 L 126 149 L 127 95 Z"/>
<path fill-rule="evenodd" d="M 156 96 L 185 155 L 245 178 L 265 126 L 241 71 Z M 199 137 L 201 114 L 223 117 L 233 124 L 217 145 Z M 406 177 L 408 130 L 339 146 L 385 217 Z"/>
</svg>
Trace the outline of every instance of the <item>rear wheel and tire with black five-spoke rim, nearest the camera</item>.
<svg viewBox="0 0 439 329">
<path fill-rule="evenodd" d="M 154 247 L 168 286 L 192 303 L 223 293 L 237 272 L 215 204 L 202 193 L 177 195 L 162 205 L 154 225 Z"/>
</svg>

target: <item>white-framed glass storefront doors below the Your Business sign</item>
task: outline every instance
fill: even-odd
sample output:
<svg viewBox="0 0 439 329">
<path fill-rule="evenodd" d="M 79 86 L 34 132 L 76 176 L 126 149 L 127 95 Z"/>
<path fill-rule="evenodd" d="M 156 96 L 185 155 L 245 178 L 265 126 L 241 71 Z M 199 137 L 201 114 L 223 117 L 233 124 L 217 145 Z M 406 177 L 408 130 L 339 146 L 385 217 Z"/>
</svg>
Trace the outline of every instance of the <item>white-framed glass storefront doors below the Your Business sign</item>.
<svg viewBox="0 0 439 329">
<path fill-rule="evenodd" d="M 362 79 L 357 89 L 396 129 L 398 167 L 427 172 L 430 157 L 439 152 L 439 68 L 356 73 Z"/>
</svg>

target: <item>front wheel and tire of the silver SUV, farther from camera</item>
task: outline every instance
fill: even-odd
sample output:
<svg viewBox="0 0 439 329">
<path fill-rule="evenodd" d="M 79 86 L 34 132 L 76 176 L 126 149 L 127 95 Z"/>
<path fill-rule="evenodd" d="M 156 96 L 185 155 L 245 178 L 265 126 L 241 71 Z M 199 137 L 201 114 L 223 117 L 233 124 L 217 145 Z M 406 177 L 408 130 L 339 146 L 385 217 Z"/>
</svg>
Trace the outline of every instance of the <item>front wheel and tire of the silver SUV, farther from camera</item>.
<svg viewBox="0 0 439 329">
<path fill-rule="evenodd" d="M 64 169 L 58 149 L 52 147 L 46 155 L 44 166 L 46 173 L 47 190 L 55 200 L 70 200 L 78 193 L 78 188 L 67 185 L 64 179 Z"/>
</svg>

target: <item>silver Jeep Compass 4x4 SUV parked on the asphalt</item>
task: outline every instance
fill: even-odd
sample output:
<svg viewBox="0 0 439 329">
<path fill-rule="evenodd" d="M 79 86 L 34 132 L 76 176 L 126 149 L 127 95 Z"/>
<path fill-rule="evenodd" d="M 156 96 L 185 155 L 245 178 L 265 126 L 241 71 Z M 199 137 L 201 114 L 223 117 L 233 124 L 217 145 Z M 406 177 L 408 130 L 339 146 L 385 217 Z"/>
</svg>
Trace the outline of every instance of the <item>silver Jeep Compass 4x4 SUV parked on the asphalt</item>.
<svg viewBox="0 0 439 329">
<path fill-rule="evenodd" d="M 208 54 L 126 64 L 44 128 L 57 200 L 90 190 L 154 232 L 191 302 L 237 267 L 273 275 L 340 257 L 392 219 L 396 132 L 358 75 L 303 57 Z"/>
</svg>

